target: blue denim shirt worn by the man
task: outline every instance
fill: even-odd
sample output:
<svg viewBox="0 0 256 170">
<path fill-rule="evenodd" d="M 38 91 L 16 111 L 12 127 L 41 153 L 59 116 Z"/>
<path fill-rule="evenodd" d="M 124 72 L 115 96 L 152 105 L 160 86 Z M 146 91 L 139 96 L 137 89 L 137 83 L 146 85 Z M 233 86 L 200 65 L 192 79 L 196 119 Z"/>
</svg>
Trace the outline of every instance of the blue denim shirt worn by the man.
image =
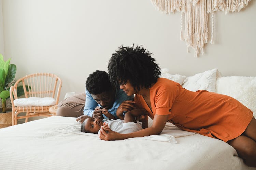
<svg viewBox="0 0 256 170">
<path fill-rule="evenodd" d="M 85 90 L 85 93 L 86 93 L 86 98 L 85 98 L 85 106 L 84 106 L 84 115 L 93 117 L 93 111 L 95 107 L 97 106 L 102 107 L 102 106 L 93 99 L 93 97 L 87 90 Z M 125 92 L 120 88 L 116 89 L 115 102 L 113 104 L 113 107 L 111 109 L 108 109 L 108 112 L 117 118 L 116 110 L 120 106 L 120 104 L 125 100 L 134 100 L 134 96 L 127 96 Z M 104 114 L 103 116 L 107 118 Z"/>
</svg>

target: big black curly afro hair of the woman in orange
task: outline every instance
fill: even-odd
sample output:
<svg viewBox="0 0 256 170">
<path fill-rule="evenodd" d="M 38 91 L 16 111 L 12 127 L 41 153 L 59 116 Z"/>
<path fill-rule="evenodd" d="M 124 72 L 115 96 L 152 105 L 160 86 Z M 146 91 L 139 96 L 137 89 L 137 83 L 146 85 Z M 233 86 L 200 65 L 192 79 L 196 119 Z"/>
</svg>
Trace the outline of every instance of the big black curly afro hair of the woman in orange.
<svg viewBox="0 0 256 170">
<path fill-rule="evenodd" d="M 156 83 L 161 75 L 160 67 L 142 46 L 120 46 L 109 60 L 108 72 L 110 81 L 119 86 L 127 80 L 138 90 L 141 87 L 149 88 Z"/>
</svg>

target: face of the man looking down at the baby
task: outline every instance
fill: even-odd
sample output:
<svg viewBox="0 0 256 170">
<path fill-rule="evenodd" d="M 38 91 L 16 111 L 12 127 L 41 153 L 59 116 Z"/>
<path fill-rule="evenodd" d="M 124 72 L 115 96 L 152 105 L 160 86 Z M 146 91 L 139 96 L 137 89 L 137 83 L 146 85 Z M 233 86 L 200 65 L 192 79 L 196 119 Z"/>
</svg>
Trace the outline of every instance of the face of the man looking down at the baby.
<svg viewBox="0 0 256 170">
<path fill-rule="evenodd" d="M 112 108 L 115 102 L 115 92 L 113 90 L 103 92 L 97 95 L 91 94 L 91 96 L 98 104 L 100 104 L 103 108 L 106 109 Z"/>
</svg>

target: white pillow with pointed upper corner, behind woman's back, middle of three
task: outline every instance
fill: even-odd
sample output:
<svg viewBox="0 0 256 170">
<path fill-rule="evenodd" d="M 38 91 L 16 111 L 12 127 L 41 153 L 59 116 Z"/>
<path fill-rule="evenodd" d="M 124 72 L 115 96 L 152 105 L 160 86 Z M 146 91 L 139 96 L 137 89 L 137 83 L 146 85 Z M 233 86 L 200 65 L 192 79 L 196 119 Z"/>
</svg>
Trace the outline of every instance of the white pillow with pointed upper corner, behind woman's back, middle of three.
<svg viewBox="0 0 256 170">
<path fill-rule="evenodd" d="M 215 85 L 217 72 L 218 69 L 215 68 L 189 76 L 184 80 L 182 87 L 190 91 L 207 90 L 210 92 L 216 92 Z"/>
</svg>

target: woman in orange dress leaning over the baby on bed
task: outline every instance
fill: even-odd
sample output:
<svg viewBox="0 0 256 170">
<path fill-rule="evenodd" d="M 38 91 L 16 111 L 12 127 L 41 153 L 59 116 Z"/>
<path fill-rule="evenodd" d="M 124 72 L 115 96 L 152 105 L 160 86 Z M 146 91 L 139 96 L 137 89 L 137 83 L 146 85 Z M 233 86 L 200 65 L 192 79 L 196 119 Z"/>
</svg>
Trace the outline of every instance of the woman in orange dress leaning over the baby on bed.
<svg viewBox="0 0 256 170">
<path fill-rule="evenodd" d="M 106 133 L 102 140 L 159 135 L 167 121 L 179 128 L 223 140 L 233 146 L 248 166 L 256 167 L 256 120 L 236 99 L 205 90 L 192 92 L 179 83 L 159 78 L 160 68 L 141 46 L 119 47 L 112 54 L 110 81 L 128 95 L 135 94 L 136 109 L 146 109 L 153 125 L 137 132 Z"/>
</svg>

